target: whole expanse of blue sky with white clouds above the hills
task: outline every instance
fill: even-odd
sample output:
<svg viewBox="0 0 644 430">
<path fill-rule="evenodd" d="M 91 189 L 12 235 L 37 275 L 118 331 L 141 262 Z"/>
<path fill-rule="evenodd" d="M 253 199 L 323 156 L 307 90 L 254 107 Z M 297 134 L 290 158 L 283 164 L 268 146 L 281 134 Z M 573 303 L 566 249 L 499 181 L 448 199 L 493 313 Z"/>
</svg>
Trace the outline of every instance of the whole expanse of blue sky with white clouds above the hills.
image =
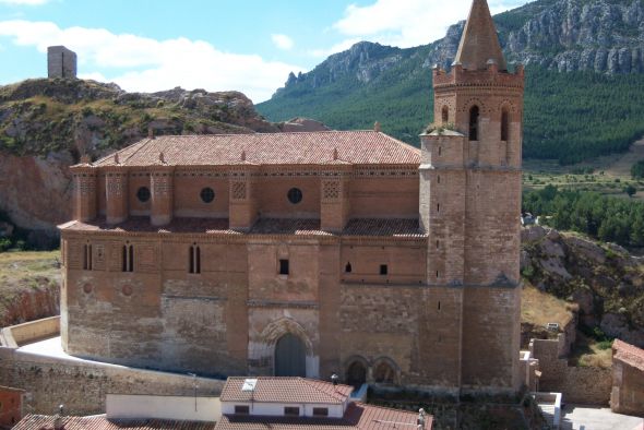
<svg viewBox="0 0 644 430">
<path fill-rule="evenodd" d="M 492 13 L 525 0 L 488 0 Z M 470 0 L 0 0 L 0 85 L 46 75 L 46 49 L 128 91 L 237 89 L 255 103 L 359 40 L 410 47 L 444 35 Z"/>
</svg>

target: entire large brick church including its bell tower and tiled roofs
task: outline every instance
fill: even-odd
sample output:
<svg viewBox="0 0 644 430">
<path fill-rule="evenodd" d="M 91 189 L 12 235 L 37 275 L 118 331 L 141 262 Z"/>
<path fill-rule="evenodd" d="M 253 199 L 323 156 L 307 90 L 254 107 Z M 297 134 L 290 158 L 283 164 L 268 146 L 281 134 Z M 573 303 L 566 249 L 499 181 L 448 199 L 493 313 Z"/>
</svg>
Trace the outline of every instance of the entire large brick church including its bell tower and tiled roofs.
<svg viewBox="0 0 644 430">
<path fill-rule="evenodd" d="M 378 128 L 150 136 L 73 166 L 63 348 L 204 375 L 517 390 L 524 76 L 486 0 L 432 75 L 420 150 Z"/>
</svg>

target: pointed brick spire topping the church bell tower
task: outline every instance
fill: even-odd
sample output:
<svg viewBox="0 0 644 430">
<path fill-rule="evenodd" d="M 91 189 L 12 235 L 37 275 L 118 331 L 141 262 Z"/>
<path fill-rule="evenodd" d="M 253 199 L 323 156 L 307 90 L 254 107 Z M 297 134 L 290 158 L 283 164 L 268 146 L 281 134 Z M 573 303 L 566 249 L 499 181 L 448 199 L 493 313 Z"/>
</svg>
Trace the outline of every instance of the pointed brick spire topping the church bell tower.
<svg viewBox="0 0 644 430">
<path fill-rule="evenodd" d="M 493 60 L 499 70 L 508 70 L 488 2 L 473 0 L 454 62 L 466 70 L 486 70 L 489 60 Z"/>
</svg>

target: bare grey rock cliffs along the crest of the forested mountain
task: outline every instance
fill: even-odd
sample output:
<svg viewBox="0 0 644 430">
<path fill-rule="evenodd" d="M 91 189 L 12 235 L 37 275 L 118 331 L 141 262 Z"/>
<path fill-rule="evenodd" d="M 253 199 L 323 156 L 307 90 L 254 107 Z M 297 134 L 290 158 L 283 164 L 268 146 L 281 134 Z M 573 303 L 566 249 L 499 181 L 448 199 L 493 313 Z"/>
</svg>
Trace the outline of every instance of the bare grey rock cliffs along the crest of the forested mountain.
<svg viewBox="0 0 644 430">
<path fill-rule="evenodd" d="M 564 71 L 644 72 L 644 3 L 641 0 L 538 0 L 494 16 L 510 63 Z M 449 70 L 458 49 L 464 22 L 450 26 L 444 38 L 399 49 L 360 41 L 335 53 L 312 72 L 290 74 L 296 84 L 319 87 L 347 75 L 369 82 L 383 71 L 418 57 L 425 68 Z"/>
</svg>

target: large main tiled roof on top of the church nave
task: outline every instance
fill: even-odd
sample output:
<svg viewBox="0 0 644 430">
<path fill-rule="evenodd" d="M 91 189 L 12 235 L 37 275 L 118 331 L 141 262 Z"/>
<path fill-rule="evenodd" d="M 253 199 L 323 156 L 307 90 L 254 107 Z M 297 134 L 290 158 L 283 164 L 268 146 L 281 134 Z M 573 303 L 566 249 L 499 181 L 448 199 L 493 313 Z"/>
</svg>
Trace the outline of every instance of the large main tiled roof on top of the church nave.
<svg viewBox="0 0 644 430">
<path fill-rule="evenodd" d="M 164 135 L 118 152 L 122 166 L 419 164 L 420 151 L 377 131 Z M 115 156 L 95 166 L 115 165 Z"/>
</svg>

